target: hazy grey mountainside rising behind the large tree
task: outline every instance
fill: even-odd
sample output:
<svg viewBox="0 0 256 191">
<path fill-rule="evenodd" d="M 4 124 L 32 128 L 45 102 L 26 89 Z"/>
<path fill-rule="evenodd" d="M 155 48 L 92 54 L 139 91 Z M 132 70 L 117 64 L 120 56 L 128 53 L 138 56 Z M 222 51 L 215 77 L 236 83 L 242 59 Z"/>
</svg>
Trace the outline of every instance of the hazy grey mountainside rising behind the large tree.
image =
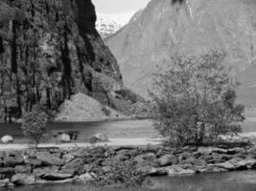
<svg viewBox="0 0 256 191">
<path fill-rule="evenodd" d="M 117 58 L 124 83 L 148 97 L 152 74 L 172 65 L 175 53 L 227 53 L 226 66 L 242 81 L 239 98 L 256 105 L 255 0 L 151 0 L 121 31 L 105 40 Z"/>
</svg>

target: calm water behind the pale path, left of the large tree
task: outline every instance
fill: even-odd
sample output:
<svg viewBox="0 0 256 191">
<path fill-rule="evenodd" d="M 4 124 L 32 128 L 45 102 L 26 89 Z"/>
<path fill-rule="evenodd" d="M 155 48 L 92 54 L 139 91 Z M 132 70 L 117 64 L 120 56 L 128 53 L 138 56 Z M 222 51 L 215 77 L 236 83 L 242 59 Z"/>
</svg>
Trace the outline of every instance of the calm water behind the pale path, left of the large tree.
<svg viewBox="0 0 256 191">
<path fill-rule="evenodd" d="M 125 120 L 102 122 L 56 122 L 47 125 L 47 140 L 58 132 L 79 131 L 78 140 L 85 141 L 92 135 L 105 133 L 108 138 L 155 138 L 158 136 L 151 120 Z M 24 138 L 20 124 L 0 124 L 0 138 L 11 135 L 15 139 Z"/>
</svg>

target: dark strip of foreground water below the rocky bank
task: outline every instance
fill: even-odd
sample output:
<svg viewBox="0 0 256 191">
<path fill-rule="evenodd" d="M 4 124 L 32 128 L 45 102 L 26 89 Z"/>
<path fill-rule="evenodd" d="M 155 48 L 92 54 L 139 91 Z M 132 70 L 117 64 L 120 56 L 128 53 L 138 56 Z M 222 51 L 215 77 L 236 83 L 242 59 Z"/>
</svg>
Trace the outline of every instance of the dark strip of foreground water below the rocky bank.
<svg viewBox="0 0 256 191">
<path fill-rule="evenodd" d="M 148 188 L 132 189 L 96 189 L 81 184 L 57 184 L 25 186 L 12 189 L 12 191 L 255 191 L 256 171 L 241 171 L 231 173 L 216 173 L 197 175 L 193 177 L 160 177 L 153 178 Z M 7 190 L 6 190 L 7 191 Z"/>
</svg>

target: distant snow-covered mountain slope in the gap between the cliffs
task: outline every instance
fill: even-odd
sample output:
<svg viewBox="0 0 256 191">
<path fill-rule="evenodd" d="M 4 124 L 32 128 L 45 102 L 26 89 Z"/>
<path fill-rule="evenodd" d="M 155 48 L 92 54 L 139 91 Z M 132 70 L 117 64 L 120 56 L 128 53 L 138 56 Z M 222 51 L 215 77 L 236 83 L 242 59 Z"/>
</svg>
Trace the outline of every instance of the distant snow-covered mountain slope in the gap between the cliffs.
<svg viewBox="0 0 256 191">
<path fill-rule="evenodd" d="M 96 29 L 105 39 L 120 30 L 134 14 L 134 11 L 125 13 L 97 13 Z"/>
</svg>

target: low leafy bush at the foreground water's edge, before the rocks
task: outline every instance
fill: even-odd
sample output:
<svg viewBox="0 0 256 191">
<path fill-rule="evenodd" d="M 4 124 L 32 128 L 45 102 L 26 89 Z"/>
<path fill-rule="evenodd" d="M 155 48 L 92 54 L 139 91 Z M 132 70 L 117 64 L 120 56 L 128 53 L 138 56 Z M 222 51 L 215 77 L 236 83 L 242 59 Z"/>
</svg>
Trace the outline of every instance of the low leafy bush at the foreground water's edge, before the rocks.
<svg viewBox="0 0 256 191">
<path fill-rule="evenodd" d="M 142 185 L 145 180 L 143 172 L 138 170 L 134 160 L 111 159 L 107 170 L 97 170 L 93 183 L 97 186 L 136 187 Z"/>
</svg>

